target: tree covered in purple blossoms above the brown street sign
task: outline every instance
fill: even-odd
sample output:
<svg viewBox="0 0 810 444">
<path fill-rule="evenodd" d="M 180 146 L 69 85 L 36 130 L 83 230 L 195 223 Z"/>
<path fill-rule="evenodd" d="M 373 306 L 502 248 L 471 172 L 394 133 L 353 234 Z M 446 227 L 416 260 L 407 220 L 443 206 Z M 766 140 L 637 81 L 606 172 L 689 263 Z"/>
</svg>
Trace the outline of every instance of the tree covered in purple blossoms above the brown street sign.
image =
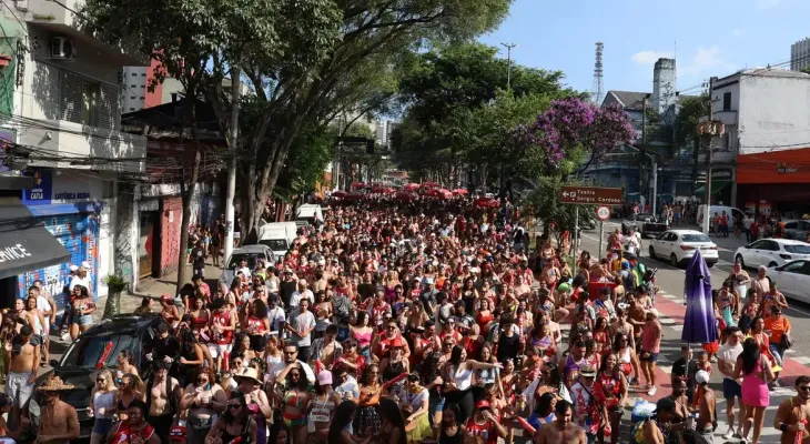
<svg viewBox="0 0 810 444">
<path fill-rule="evenodd" d="M 551 105 L 533 123 L 514 131 L 517 148 L 541 158 L 545 171 L 557 171 L 574 153 L 585 153 L 586 164 L 636 139 L 630 117 L 618 104 L 599 108 L 579 98 L 566 98 Z"/>
</svg>

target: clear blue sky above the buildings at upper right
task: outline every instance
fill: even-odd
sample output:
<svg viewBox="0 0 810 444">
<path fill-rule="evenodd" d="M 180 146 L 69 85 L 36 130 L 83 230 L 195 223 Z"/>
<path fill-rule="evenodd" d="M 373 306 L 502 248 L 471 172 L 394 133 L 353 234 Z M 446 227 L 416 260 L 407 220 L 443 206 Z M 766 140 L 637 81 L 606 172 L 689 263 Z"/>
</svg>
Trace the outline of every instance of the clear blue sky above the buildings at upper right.
<svg viewBox="0 0 810 444">
<path fill-rule="evenodd" d="M 605 43 L 605 91 L 651 91 L 652 64 L 675 54 L 678 90 L 692 94 L 711 75 L 788 61 L 790 46 L 810 36 L 808 18 L 810 0 L 515 0 L 509 18 L 480 40 L 517 43 L 517 63 L 561 70 L 585 91 L 597 41 Z"/>
</svg>

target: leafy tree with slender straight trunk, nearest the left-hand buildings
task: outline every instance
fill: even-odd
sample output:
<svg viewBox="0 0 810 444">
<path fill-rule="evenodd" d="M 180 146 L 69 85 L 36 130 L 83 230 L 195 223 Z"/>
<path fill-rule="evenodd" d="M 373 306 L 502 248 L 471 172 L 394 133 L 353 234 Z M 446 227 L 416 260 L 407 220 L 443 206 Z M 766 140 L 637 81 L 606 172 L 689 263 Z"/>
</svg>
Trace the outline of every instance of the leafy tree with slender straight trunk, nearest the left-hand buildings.
<svg viewBox="0 0 810 444">
<path fill-rule="evenodd" d="M 88 0 L 79 14 L 88 32 L 114 44 L 133 46 L 136 51 L 158 61 L 150 90 L 154 90 L 166 77 L 183 85 L 188 99 L 178 128 L 181 133 L 188 131 L 191 135 L 194 155 L 191 164 L 183 165 L 180 181 L 182 249 L 189 242 L 191 196 L 200 176 L 196 98 L 207 85 L 222 82 L 224 70 L 209 69 L 215 60 L 225 54 L 232 57 L 247 44 L 257 56 L 266 56 L 271 51 L 270 43 L 276 37 L 267 20 L 272 17 L 269 11 L 275 11 L 276 3 L 275 0 Z M 234 39 L 235 36 L 244 40 Z M 178 292 L 186 282 L 184 259 L 181 254 L 178 263 Z"/>
</svg>

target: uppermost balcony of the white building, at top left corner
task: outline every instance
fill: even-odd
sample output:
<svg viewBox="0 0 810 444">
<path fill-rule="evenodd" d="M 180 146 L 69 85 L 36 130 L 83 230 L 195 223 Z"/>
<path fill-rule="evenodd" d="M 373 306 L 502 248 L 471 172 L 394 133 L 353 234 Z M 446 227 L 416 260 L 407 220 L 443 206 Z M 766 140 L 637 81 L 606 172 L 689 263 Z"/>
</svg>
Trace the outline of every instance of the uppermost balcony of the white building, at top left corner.
<svg viewBox="0 0 810 444">
<path fill-rule="evenodd" d="M 73 11 L 81 9 L 83 0 L 60 0 L 60 3 L 67 8 L 62 8 L 52 0 L 0 0 L 11 3 L 11 10 L 17 14 L 18 20 L 24 20 L 29 26 L 45 30 L 53 34 L 69 38 L 75 42 L 75 46 L 87 47 L 92 53 L 100 59 L 112 64 L 122 67 L 149 67 L 150 58 L 139 51 L 130 48 L 126 43 L 110 44 L 110 39 L 102 36 L 92 36 L 80 30 L 81 21 L 75 17 Z M 6 13 L 9 10 L 6 10 Z"/>
</svg>

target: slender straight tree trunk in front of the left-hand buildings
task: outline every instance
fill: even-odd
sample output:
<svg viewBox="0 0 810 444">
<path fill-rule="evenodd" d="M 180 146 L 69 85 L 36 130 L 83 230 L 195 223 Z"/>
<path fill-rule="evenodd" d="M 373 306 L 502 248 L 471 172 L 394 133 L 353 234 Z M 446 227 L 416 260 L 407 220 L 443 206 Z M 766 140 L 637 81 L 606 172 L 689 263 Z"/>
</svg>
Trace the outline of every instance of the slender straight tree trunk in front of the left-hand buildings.
<svg viewBox="0 0 810 444">
<path fill-rule="evenodd" d="M 191 128 L 192 134 L 192 148 L 194 150 L 194 159 L 191 164 L 191 180 L 189 183 L 182 181 L 180 184 L 180 199 L 183 202 L 183 218 L 180 222 L 180 256 L 178 258 L 178 285 L 175 294 L 180 294 L 180 289 L 186 283 L 185 278 L 185 250 L 189 248 L 189 225 L 191 225 L 191 199 L 194 196 L 194 190 L 196 190 L 196 182 L 200 180 L 200 160 L 202 154 L 200 152 L 200 139 L 196 131 L 196 103 L 195 97 L 196 91 L 194 88 L 186 90 L 186 98 L 184 103 L 185 123 L 180 128 L 180 141 L 183 141 L 184 127 Z M 185 150 L 184 150 L 185 151 Z M 183 152 L 183 164 L 185 164 L 185 152 Z M 183 168 L 185 170 L 185 168 Z M 183 174 L 185 176 L 185 174 Z M 184 178 L 185 179 L 185 178 Z M 227 260 L 227 258 L 225 258 Z"/>
</svg>

